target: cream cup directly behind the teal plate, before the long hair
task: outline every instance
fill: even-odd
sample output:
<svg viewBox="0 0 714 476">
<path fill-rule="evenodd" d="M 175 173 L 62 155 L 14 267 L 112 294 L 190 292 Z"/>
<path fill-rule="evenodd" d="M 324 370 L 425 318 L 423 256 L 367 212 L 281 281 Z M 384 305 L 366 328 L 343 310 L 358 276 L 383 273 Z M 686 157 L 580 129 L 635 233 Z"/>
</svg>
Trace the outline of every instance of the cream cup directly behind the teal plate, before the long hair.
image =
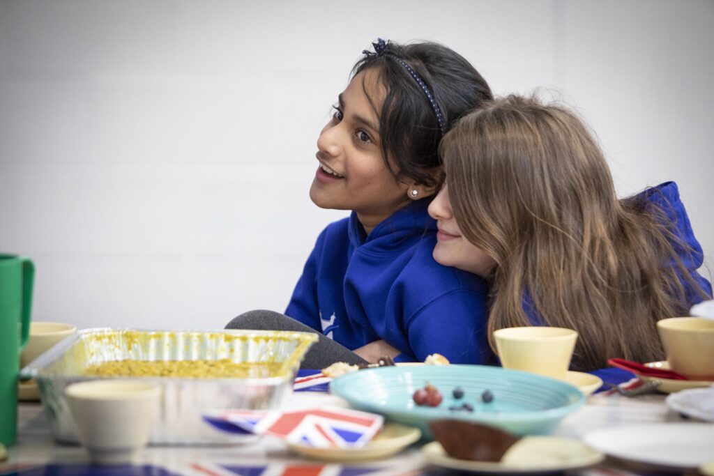
<svg viewBox="0 0 714 476">
<path fill-rule="evenodd" d="M 493 333 L 503 368 L 564 379 L 578 333 L 549 327 L 505 328 Z"/>
</svg>

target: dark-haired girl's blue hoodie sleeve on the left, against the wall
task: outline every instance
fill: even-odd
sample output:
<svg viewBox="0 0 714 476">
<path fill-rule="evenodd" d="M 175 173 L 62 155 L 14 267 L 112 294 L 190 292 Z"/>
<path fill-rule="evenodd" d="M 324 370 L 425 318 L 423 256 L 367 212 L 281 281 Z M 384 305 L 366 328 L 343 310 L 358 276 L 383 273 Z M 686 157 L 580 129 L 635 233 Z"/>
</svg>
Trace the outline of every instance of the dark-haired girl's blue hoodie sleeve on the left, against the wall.
<svg viewBox="0 0 714 476">
<path fill-rule="evenodd" d="M 322 332 L 322 325 L 320 323 L 320 307 L 317 300 L 317 273 L 325 235 L 326 230 L 318 236 L 315 248 L 313 248 L 310 257 L 305 263 L 303 275 L 295 285 L 293 296 L 285 311 L 285 315 L 309 325 L 319 332 Z"/>
</svg>

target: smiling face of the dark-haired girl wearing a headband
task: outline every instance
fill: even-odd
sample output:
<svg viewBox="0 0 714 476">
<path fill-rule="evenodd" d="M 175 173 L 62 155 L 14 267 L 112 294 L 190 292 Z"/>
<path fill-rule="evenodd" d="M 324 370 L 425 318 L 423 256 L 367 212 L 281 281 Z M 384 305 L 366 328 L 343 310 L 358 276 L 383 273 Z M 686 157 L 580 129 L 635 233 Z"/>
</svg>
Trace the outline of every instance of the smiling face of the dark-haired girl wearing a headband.
<svg viewBox="0 0 714 476">
<path fill-rule="evenodd" d="M 356 211 L 367 233 L 408 201 L 408 185 L 392 175 L 382 156 L 376 111 L 384 96 L 376 71 L 350 81 L 318 138 L 320 164 L 310 187 L 317 206 Z"/>
</svg>

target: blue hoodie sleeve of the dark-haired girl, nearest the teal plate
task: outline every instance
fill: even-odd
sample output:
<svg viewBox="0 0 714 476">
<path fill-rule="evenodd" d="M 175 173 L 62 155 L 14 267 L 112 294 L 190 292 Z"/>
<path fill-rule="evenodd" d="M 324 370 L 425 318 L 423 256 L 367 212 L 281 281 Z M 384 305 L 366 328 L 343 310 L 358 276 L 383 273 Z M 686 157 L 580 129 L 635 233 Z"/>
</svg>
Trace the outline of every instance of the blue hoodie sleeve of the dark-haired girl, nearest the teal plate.
<svg viewBox="0 0 714 476">
<path fill-rule="evenodd" d="M 422 308 L 407 321 L 413 357 L 423 362 L 440 353 L 454 364 L 486 364 L 493 361 L 486 338 L 486 293 L 453 290 Z M 408 360 L 401 354 L 396 361 Z"/>
</svg>

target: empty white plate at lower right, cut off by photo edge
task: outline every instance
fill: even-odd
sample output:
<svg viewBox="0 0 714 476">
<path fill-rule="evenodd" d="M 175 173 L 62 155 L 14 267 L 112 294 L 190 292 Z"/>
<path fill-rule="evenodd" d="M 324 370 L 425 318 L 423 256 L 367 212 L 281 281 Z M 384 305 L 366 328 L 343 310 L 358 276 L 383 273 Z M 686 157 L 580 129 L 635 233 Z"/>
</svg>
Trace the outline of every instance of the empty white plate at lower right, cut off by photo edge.
<svg viewBox="0 0 714 476">
<path fill-rule="evenodd" d="M 584 441 L 621 460 L 696 468 L 714 456 L 714 425 L 671 422 L 608 427 L 588 433 Z"/>
</svg>

